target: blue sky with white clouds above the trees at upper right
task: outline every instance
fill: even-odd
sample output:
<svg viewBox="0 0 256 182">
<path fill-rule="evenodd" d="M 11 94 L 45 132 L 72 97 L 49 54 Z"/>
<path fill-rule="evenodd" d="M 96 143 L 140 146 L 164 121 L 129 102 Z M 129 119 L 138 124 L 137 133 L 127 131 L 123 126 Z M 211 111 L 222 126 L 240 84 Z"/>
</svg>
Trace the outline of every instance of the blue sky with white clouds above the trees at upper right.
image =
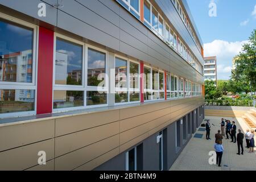
<svg viewBox="0 0 256 182">
<path fill-rule="evenodd" d="M 255 0 L 187 0 L 204 43 L 205 56 L 217 56 L 217 78 L 228 80 L 232 58 L 256 28 Z M 209 16 L 209 3 L 217 16 Z"/>
</svg>

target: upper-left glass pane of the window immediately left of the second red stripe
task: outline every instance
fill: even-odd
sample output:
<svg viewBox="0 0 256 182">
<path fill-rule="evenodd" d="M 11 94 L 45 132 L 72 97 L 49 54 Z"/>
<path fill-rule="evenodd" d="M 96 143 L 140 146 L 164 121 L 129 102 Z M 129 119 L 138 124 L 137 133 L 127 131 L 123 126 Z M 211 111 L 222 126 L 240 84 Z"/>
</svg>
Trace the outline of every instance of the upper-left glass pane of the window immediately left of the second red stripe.
<svg viewBox="0 0 256 182">
<path fill-rule="evenodd" d="M 127 88 L 127 61 L 115 57 L 115 87 Z"/>
</svg>

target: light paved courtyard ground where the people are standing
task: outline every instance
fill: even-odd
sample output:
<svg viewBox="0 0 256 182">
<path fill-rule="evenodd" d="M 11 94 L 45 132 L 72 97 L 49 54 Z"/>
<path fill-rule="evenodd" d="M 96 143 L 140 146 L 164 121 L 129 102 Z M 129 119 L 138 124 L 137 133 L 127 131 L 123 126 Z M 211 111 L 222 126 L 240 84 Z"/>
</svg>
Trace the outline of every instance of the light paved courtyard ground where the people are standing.
<svg viewBox="0 0 256 182">
<path fill-rule="evenodd" d="M 214 141 L 215 134 L 217 130 L 220 129 L 220 117 L 205 117 L 205 119 L 210 119 L 211 130 L 210 138 L 212 140 L 207 140 L 205 138 L 205 131 L 196 131 L 197 134 L 203 134 L 203 138 L 193 138 L 189 141 L 187 146 L 181 152 L 175 163 L 171 167 L 171 171 L 230 171 L 230 170 L 241 170 L 241 171 L 251 171 L 256 170 L 256 154 L 249 154 L 249 149 L 244 147 L 244 154 L 237 155 L 238 148 L 237 143 L 231 143 L 231 139 L 223 139 L 224 154 L 222 156 L 222 167 L 217 167 L 217 165 L 209 164 L 209 152 L 214 151 Z M 240 123 L 240 119 L 235 118 L 225 118 L 229 119 L 231 122 L 235 121 L 238 129 L 242 129 L 242 132 L 246 130 L 246 125 Z M 212 125 L 215 125 L 215 127 Z M 242 127 L 242 128 L 241 128 Z M 205 127 L 204 127 L 205 128 Z M 194 134 L 193 134 L 194 135 Z M 246 145 L 245 139 L 243 146 Z"/>
</svg>

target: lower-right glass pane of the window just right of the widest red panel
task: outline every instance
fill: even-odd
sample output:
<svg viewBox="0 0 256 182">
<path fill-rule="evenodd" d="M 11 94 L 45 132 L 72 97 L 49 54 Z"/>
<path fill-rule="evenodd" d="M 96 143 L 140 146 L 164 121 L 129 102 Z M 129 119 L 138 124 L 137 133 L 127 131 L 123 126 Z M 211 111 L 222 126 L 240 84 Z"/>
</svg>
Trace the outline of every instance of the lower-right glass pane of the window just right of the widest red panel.
<svg viewBox="0 0 256 182">
<path fill-rule="evenodd" d="M 86 97 L 86 105 L 92 106 L 92 105 L 101 105 L 101 104 L 107 104 L 107 94 L 106 93 L 100 93 L 98 91 L 88 91 L 87 97 Z"/>
</svg>

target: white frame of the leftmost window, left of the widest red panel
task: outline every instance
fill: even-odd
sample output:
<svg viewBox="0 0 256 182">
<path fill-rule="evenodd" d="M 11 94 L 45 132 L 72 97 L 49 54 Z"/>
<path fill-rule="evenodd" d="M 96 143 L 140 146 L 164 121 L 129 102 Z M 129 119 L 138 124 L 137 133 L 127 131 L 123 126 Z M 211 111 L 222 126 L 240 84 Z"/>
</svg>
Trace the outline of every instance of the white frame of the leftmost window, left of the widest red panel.
<svg viewBox="0 0 256 182">
<path fill-rule="evenodd" d="M 11 118 L 11 117 L 21 117 L 27 115 L 36 115 L 36 102 L 37 102 L 37 85 L 38 85 L 38 26 L 25 22 L 21 19 L 14 18 L 13 16 L 0 13 L 0 18 L 7 20 L 11 23 L 16 23 L 18 26 L 23 26 L 27 28 L 32 28 L 33 31 L 33 50 L 32 50 L 32 82 L 7 82 L 0 81 L 1 90 L 34 90 L 34 110 L 32 111 L 20 111 L 13 113 L 2 113 L 1 118 Z"/>
</svg>

